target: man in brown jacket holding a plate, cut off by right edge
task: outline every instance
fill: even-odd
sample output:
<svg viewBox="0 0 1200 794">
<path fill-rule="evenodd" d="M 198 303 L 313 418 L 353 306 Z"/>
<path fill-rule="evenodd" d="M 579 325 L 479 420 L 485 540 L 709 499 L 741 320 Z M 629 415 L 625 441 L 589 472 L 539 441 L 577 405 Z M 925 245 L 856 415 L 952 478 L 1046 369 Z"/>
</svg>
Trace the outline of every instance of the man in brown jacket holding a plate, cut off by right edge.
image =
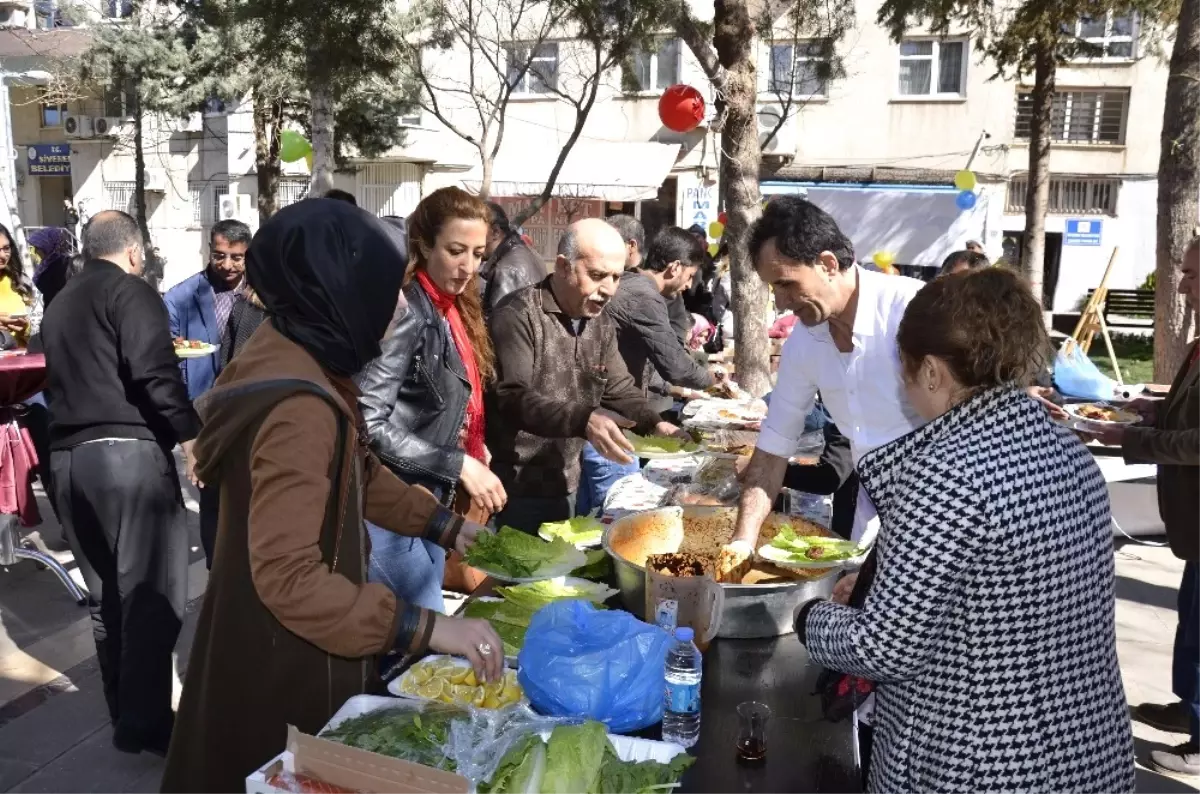
<svg viewBox="0 0 1200 794">
<path fill-rule="evenodd" d="M 1200 309 L 1200 240 L 1183 257 L 1180 291 L 1192 309 Z M 1172 733 L 1188 734 L 1172 750 L 1150 753 L 1151 763 L 1171 775 L 1200 777 L 1200 342 L 1188 350 L 1165 399 L 1138 399 L 1129 407 L 1145 425 L 1118 426 L 1099 433 L 1104 444 L 1117 445 L 1130 462 L 1158 464 L 1158 511 L 1171 552 L 1186 561 L 1180 584 L 1171 688 L 1180 700 L 1144 703 L 1134 710 L 1142 722 Z"/>
</svg>

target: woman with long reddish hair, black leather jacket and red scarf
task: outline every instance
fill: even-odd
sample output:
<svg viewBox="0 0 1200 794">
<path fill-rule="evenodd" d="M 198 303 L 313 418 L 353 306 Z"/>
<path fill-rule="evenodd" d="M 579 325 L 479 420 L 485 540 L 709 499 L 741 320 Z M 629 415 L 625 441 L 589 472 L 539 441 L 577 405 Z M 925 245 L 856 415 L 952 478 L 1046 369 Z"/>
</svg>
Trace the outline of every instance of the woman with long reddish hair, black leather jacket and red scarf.
<svg viewBox="0 0 1200 794">
<path fill-rule="evenodd" d="M 496 371 L 479 267 L 491 210 L 457 187 L 427 196 L 408 217 L 408 313 L 359 377 L 371 449 L 409 483 L 484 523 L 505 504 L 484 446 L 484 389 Z M 445 552 L 368 525 L 372 582 L 440 609 Z"/>
</svg>

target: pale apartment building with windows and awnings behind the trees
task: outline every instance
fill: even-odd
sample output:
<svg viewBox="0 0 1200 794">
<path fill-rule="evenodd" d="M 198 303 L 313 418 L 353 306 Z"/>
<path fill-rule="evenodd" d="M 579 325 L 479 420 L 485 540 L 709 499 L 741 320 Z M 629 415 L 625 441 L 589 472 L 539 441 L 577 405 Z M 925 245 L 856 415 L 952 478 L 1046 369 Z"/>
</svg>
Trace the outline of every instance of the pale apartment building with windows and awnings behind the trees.
<svg viewBox="0 0 1200 794">
<path fill-rule="evenodd" d="M 992 79 L 995 67 L 980 60 L 970 30 L 890 41 L 874 24 L 877 5 L 858 0 L 858 24 L 836 44 L 846 68 L 838 79 L 818 76 L 820 42 L 790 37 L 782 25 L 764 34 L 757 48 L 761 132 L 776 126 L 788 102 L 796 113 L 764 148 L 763 193 L 806 194 L 838 217 L 863 259 L 884 251 L 898 265 L 928 271 L 971 239 L 994 258 L 1016 259 L 1025 223 L 1028 85 Z M 86 28 L 62 26 L 76 20 L 50 18 L 40 11 L 44 7 L 0 0 L 0 24 L 8 8 L 7 24 L 18 25 L 0 29 L 0 68 L 8 76 L 19 154 L 17 210 L 26 225 L 61 223 L 65 200 L 86 217 L 127 207 L 133 198 L 127 97 L 110 90 L 61 106 L 38 102 L 41 89 L 30 76 L 64 53 L 85 49 L 89 35 Z M 706 2 L 694 2 L 694 11 L 710 14 Z M 128 13 L 121 0 L 101 4 L 101 17 Z M 1098 283 L 1114 247 L 1120 255 L 1111 287 L 1139 285 L 1154 264 L 1165 64 L 1141 41 L 1135 17 L 1082 19 L 1076 34 L 1104 55 L 1058 73 L 1046 221 L 1046 282 L 1056 311 L 1070 311 Z M 528 47 L 505 44 L 514 61 L 523 60 Z M 570 134 L 574 112 L 558 92 L 578 80 L 583 52 L 569 38 L 544 41 L 532 53 L 534 68 L 512 76 L 516 90 L 491 191 L 512 211 L 540 192 Z M 467 84 L 470 59 L 463 55 L 431 52 L 428 67 L 445 85 Z M 613 70 L 604 77 L 552 201 L 524 224 L 547 260 L 562 229 L 581 217 L 632 212 L 652 230 L 667 223 L 707 228 L 716 219 L 720 136 L 709 126 L 712 114 L 682 134 L 658 115 L 664 89 L 679 83 L 700 90 L 712 108 L 700 65 L 678 38 L 664 35 L 631 68 L 632 74 Z M 472 108 L 454 108 L 444 97 L 442 107 L 456 126 L 470 128 Z M 200 267 L 215 219 L 257 221 L 248 108 L 210 110 L 146 122 L 149 221 L 167 259 L 166 285 Z M 482 168 L 472 145 L 433 114 L 414 113 L 403 122 L 403 145 L 353 162 L 337 175 L 338 187 L 372 212 L 407 215 L 443 185 L 480 186 Z M 979 178 L 978 199 L 961 211 L 952 181 L 968 161 Z M 289 167 L 281 204 L 306 190 L 304 164 Z"/>
</svg>

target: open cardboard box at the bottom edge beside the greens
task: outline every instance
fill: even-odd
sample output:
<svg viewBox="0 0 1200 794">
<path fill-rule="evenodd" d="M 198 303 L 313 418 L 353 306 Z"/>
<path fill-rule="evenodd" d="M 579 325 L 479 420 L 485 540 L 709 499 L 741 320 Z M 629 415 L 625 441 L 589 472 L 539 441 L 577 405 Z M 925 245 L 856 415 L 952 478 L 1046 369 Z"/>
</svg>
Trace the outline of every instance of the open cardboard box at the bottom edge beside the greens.
<svg viewBox="0 0 1200 794">
<path fill-rule="evenodd" d="M 467 794 L 466 777 L 310 736 L 288 726 L 288 750 L 246 778 L 246 794 L 289 794 L 268 783 L 288 771 L 364 794 Z"/>
</svg>

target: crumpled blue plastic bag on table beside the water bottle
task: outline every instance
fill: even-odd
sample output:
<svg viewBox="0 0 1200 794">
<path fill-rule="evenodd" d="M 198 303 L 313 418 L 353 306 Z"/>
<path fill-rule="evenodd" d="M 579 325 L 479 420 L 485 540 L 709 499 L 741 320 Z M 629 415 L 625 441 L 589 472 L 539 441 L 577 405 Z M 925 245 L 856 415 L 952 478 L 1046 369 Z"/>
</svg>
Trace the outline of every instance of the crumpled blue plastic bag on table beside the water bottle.
<svg viewBox="0 0 1200 794">
<path fill-rule="evenodd" d="M 517 680 L 541 714 L 629 733 L 662 721 L 671 636 L 619 609 L 556 601 L 533 616 Z"/>
</svg>

